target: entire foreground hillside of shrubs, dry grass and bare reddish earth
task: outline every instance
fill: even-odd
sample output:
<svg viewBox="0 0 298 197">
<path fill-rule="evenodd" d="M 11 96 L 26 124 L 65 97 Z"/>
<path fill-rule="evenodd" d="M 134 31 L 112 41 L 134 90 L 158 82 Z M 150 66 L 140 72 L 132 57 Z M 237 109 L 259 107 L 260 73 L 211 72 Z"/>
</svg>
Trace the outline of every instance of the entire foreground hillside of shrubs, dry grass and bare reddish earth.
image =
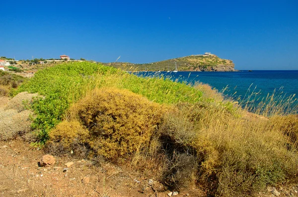
<svg viewBox="0 0 298 197">
<path fill-rule="evenodd" d="M 204 84 L 142 78 L 90 62 L 40 69 L 8 90 L 13 98 L 3 97 L 0 106 L 0 194 L 298 194 L 297 111 L 257 115 Z M 16 139 L 57 162 L 38 166 L 41 152 L 34 156 Z"/>
</svg>

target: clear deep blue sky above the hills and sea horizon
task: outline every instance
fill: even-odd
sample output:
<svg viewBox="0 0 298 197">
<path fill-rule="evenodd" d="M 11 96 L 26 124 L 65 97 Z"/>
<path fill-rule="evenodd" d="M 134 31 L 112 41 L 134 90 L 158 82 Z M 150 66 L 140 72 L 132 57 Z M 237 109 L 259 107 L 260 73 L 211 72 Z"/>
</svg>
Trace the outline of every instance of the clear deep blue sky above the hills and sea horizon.
<svg viewBox="0 0 298 197">
<path fill-rule="evenodd" d="M 298 0 L 3 0 L 0 56 L 148 63 L 212 52 L 298 69 Z"/>
</svg>

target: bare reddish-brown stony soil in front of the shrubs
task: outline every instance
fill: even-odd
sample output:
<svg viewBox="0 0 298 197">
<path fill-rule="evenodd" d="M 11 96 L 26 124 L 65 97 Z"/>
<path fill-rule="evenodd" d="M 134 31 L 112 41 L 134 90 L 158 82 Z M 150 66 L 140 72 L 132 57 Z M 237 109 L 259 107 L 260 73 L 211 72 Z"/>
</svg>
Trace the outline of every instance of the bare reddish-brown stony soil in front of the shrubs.
<svg viewBox="0 0 298 197">
<path fill-rule="evenodd" d="M 39 167 L 45 154 L 22 140 L 0 141 L 0 196 L 28 197 L 167 197 L 168 191 L 159 182 L 128 172 L 110 163 L 95 166 L 91 161 L 55 157 L 56 163 Z M 67 162 L 74 164 L 65 169 Z M 180 197 L 205 197 L 192 189 Z"/>
</svg>

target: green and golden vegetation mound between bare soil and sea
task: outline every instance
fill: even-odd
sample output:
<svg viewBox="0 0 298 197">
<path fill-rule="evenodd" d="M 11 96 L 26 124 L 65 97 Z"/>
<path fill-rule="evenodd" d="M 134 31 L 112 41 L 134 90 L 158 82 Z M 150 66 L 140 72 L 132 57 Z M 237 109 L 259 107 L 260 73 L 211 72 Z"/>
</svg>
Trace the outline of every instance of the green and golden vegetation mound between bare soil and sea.
<svg viewBox="0 0 298 197">
<path fill-rule="evenodd" d="M 24 91 L 43 96 L 29 106 L 34 140 L 54 155 L 103 159 L 209 196 L 297 183 L 297 115 L 254 115 L 206 85 L 88 62 L 40 70 L 13 94 Z"/>
</svg>

